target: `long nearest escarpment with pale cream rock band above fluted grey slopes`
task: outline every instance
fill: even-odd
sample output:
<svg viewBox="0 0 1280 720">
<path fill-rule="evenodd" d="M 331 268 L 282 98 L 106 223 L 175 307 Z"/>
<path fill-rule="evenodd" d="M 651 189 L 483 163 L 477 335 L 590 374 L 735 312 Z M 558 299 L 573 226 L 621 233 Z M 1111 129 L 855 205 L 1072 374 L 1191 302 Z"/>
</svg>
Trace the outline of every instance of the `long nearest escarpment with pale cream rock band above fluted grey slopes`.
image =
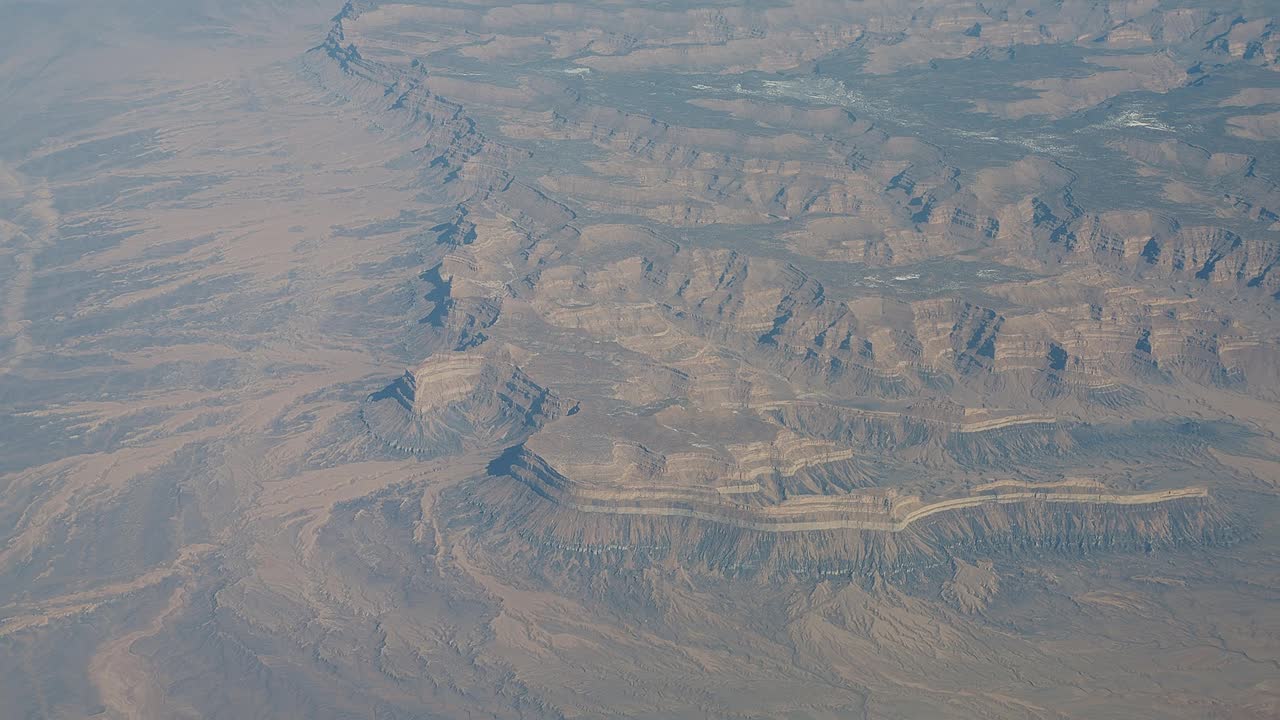
<svg viewBox="0 0 1280 720">
<path fill-rule="evenodd" d="M 676 560 L 746 577 L 902 574 L 969 552 L 1149 551 L 1231 542 L 1206 488 L 1114 493 L 1091 480 L 993 482 L 924 501 L 888 491 L 751 506 L 707 492 L 591 493 L 515 448 L 453 497 L 485 543 L 539 562 Z"/>
</svg>

